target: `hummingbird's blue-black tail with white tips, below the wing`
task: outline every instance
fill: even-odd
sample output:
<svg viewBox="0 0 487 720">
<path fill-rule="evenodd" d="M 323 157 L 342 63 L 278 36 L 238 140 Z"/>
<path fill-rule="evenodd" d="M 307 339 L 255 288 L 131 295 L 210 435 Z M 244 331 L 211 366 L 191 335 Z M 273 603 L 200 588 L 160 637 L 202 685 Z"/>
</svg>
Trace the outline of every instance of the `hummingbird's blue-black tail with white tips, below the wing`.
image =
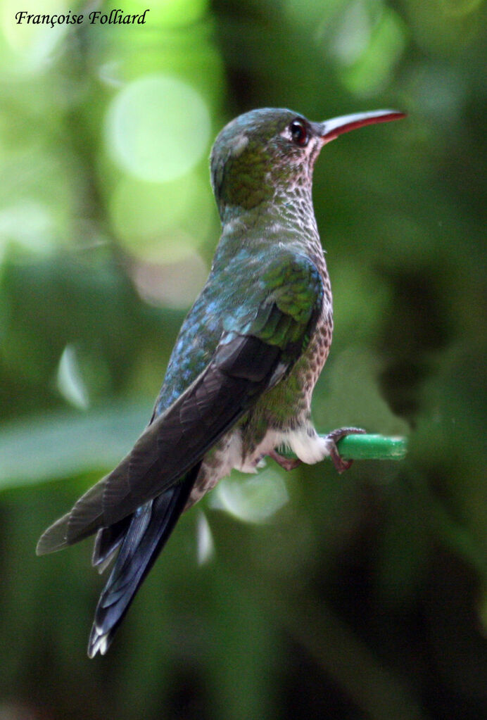
<svg viewBox="0 0 487 720">
<path fill-rule="evenodd" d="M 89 657 L 97 652 L 105 654 L 110 647 L 115 631 L 138 588 L 184 510 L 199 470 L 200 464 L 195 465 L 181 482 L 127 518 L 128 528 L 125 528 L 125 534 L 119 542 L 117 559 L 95 611 L 89 636 Z"/>
</svg>

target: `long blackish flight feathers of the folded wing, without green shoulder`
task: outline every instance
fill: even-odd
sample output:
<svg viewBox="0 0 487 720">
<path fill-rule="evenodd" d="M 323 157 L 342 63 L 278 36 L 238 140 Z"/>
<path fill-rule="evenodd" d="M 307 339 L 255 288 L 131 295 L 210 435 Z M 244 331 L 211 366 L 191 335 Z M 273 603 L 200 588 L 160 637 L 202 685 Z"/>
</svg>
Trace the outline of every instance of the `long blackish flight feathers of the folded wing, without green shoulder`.
<svg viewBox="0 0 487 720">
<path fill-rule="evenodd" d="M 259 338 L 225 336 L 205 371 L 146 428 L 130 454 L 45 531 L 37 554 L 120 522 L 174 485 L 266 389 L 279 356 L 280 348 Z"/>
</svg>

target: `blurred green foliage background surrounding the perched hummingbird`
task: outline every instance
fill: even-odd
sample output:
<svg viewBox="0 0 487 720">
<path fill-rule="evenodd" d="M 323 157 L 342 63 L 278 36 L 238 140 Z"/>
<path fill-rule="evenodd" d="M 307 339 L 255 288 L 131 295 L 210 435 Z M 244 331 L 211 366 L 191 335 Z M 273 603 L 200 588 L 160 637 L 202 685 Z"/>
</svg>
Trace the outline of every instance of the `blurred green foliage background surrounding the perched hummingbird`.
<svg viewBox="0 0 487 720">
<path fill-rule="evenodd" d="M 486 3 L 21 9 L 1 2 L 0 719 L 486 718 Z M 68 9 L 92 7 L 30 12 Z M 314 413 L 411 451 L 223 482 L 89 661 L 89 544 L 41 560 L 37 536 L 150 416 L 218 239 L 210 145 L 262 106 L 408 112 L 316 167 L 336 330 Z"/>
</svg>

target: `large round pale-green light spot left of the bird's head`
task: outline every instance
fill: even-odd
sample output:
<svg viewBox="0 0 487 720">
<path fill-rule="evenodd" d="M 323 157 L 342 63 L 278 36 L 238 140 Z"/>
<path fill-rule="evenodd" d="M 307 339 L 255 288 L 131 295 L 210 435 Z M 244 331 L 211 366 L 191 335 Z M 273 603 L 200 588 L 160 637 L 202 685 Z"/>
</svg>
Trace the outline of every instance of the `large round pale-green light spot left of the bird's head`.
<svg viewBox="0 0 487 720">
<path fill-rule="evenodd" d="M 146 181 L 169 181 L 200 160 L 210 140 L 202 97 L 169 76 L 147 76 L 120 91 L 107 114 L 107 143 L 115 161 Z"/>
</svg>

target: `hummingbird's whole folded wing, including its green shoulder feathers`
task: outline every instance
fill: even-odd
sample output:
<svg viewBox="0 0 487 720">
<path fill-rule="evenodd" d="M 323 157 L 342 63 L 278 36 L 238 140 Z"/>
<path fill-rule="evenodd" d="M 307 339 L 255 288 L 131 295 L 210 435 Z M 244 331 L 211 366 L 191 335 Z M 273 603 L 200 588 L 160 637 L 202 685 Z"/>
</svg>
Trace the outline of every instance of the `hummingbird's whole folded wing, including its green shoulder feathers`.
<svg viewBox="0 0 487 720">
<path fill-rule="evenodd" d="M 226 332 L 206 368 L 153 420 L 122 462 L 45 531 L 38 554 L 120 523 L 175 485 L 259 395 L 290 371 L 321 310 L 321 277 L 309 258 L 296 254 L 274 258 L 263 277 L 266 294 L 251 311 L 242 306 L 243 314 L 225 320 Z"/>
</svg>

